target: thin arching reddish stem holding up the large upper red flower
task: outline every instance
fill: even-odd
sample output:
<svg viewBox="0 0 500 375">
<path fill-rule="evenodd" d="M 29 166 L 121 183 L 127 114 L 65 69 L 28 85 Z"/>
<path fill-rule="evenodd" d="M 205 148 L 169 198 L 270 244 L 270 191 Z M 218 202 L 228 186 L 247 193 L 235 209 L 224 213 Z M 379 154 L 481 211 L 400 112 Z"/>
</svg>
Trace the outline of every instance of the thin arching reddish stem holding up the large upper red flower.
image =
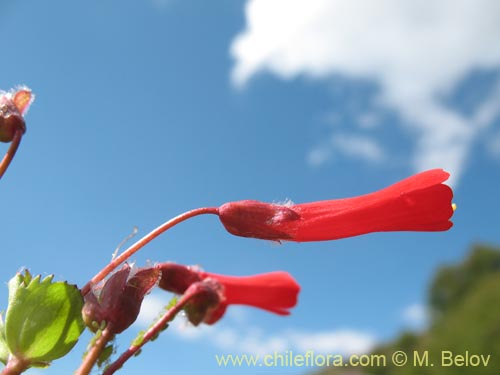
<svg viewBox="0 0 500 375">
<path fill-rule="evenodd" d="M 132 246 L 130 246 L 127 250 L 125 250 L 123 253 L 118 255 L 116 258 L 114 258 L 106 267 L 104 267 L 97 275 L 95 275 L 83 288 L 82 288 L 82 295 L 86 295 L 89 291 L 92 285 L 97 284 L 99 281 L 104 279 L 110 272 L 112 272 L 116 267 L 118 267 L 122 262 L 130 258 L 133 254 L 135 254 L 137 251 L 139 251 L 142 247 L 147 245 L 149 242 L 154 240 L 156 237 L 158 237 L 160 234 L 163 232 L 167 231 L 168 229 L 172 228 L 173 226 L 190 219 L 194 216 L 198 215 L 204 215 L 204 214 L 214 214 L 217 215 L 219 212 L 219 209 L 217 207 L 202 207 L 202 208 L 197 208 L 188 212 L 185 212 L 183 214 L 180 214 L 179 216 L 174 217 L 173 219 L 170 219 L 166 223 L 163 223 L 156 229 L 153 229 L 151 232 L 149 232 L 147 235 L 142 237 L 139 241 L 134 243 Z"/>
</svg>

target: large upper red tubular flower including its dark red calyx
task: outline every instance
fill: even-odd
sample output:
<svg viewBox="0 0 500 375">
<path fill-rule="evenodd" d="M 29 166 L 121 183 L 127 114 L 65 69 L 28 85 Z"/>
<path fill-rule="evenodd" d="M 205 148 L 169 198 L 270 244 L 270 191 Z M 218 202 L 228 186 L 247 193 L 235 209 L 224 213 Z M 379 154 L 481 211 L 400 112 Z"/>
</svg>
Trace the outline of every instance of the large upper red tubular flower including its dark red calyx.
<svg viewBox="0 0 500 375">
<path fill-rule="evenodd" d="M 371 232 L 444 231 L 451 228 L 449 173 L 433 169 L 355 198 L 278 205 L 230 202 L 219 218 L 231 234 L 267 240 L 326 241 Z"/>
</svg>

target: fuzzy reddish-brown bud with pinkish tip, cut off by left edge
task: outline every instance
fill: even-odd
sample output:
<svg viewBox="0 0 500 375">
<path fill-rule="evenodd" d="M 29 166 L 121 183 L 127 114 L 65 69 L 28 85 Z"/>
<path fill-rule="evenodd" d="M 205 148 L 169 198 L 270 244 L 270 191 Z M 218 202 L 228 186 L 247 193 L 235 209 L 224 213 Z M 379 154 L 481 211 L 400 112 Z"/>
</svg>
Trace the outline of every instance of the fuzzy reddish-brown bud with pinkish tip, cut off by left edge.
<svg viewBox="0 0 500 375">
<path fill-rule="evenodd" d="M 34 95 L 26 87 L 15 92 L 0 91 L 0 142 L 11 142 L 16 131 L 26 131 L 23 115 L 33 99 Z"/>
</svg>

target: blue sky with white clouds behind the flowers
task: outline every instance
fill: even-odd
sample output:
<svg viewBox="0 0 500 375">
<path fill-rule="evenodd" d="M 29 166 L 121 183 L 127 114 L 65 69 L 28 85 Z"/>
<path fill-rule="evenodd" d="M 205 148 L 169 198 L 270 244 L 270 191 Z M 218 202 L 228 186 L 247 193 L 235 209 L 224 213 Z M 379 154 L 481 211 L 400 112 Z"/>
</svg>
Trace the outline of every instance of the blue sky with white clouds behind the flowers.
<svg viewBox="0 0 500 375">
<path fill-rule="evenodd" d="M 179 319 L 122 374 L 255 373 L 219 369 L 214 354 L 362 350 L 422 324 L 441 264 L 500 243 L 498 3 L 286 4 L 0 4 L 0 88 L 37 95 L 2 179 L 4 283 L 24 266 L 82 286 L 134 226 L 144 235 L 200 206 L 348 197 L 452 172 L 459 209 L 444 233 L 276 245 L 231 237 L 211 216 L 173 229 L 137 264 L 286 270 L 299 305 L 287 318 L 233 308 L 199 330 Z M 88 338 L 47 373 L 76 368 Z"/>
</svg>

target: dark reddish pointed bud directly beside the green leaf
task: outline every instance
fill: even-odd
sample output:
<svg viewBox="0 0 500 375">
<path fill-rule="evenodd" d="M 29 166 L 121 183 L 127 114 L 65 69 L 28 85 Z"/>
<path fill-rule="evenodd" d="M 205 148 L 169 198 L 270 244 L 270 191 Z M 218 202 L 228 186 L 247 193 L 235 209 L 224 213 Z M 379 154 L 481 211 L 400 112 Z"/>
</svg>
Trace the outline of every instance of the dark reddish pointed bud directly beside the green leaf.
<svg viewBox="0 0 500 375">
<path fill-rule="evenodd" d="M 91 330 L 105 322 L 112 333 L 120 333 L 135 322 L 144 296 L 158 283 L 160 271 L 148 267 L 132 276 L 130 273 L 131 267 L 125 264 L 102 288 L 94 288 L 84 296 L 82 316 Z"/>
</svg>

